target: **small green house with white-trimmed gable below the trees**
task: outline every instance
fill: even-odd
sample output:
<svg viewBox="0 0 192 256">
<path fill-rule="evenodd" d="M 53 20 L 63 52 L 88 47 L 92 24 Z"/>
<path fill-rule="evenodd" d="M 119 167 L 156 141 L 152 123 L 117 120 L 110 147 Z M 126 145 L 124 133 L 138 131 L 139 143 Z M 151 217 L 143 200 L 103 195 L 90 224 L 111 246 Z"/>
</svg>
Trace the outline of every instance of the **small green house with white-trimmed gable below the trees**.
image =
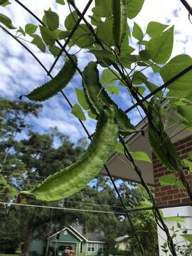
<svg viewBox="0 0 192 256">
<path fill-rule="evenodd" d="M 101 252 L 105 252 L 106 243 L 105 236 L 102 232 L 95 231 L 94 233 L 87 233 L 83 235 L 82 226 L 75 227 L 71 225 L 65 226 L 57 233 L 50 235 L 46 240 L 35 240 L 31 242 L 31 255 L 46 255 L 46 248 L 51 248 L 55 255 L 55 251 L 63 251 L 65 247 L 70 248 L 75 253 L 75 256 L 80 254 L 87 256 L 96 256 Z"/>
</svg>

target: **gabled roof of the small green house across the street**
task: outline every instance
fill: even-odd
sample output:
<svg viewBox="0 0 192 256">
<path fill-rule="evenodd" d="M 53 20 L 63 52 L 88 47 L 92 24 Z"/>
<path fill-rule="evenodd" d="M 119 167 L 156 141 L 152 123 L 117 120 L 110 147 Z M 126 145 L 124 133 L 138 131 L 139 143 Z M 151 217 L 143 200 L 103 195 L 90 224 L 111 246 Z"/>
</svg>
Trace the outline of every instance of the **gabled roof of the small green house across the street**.
<svg viewBox="0 0 192 256">
<path fill-rule="evenodd" d="M 49 238 L 52 238 L 54 235 L 57 235 L 58 233 L 68 230 L 70 233 L 73 233 L 76 238 L 78 238 L 80 241 L 86 241 L 86 242 L 104 242 L 105 241 L 105 235 L 103 232 L 99 232 L 98 230 L 95 230 L 95 232 L 92 233 L 86 233 L 83 234 L 83 228 L 82 225 L 66 225 L 62 230 L 59 230 L 57 233 L 54 233 L 53 235 L 50 235 Z"/>
</svg>

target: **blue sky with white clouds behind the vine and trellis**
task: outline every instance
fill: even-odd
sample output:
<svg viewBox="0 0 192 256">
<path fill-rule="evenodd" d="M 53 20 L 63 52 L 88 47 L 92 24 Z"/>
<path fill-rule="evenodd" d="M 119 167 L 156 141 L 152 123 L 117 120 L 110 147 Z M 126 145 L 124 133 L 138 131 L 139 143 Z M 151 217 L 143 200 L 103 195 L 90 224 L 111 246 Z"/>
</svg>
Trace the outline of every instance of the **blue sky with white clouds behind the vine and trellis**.
<svg viewBox="0 0 192 256">
<path fill-rule="evenodd" d="M 23 11 L 16 2 L 12 1 L 13 4 L 3 8 L 0 7 L 0 12 L 9 15 L 14 21 L 15 26 L 24 27 L 26 23 L 33 22 L 33 19 Z M 60 27 L 64 28 L 64 17 L 68 14 L 67 6 L 55 5 L 55 0 L 25 0 L 22 1 L 26 4 L 29 9 L 34 11 L 40 18 L 43 16 L 43 10 L 58 9 L 60 14 Z M 79 8 L 82 10 L 87 1 L 81 0 L 76 1 Z M 188 1 L 192 5 L 192 1 Z M 91 8 L 88 14 L 91 14 Z M 192 24 L 188 21 L 188 13 L 186 9 L 181 5 L 180 1 L 176 0 L 145 0 L 142 12 L 134 19 L 142 29 L 146 29 L 147 23 L 149 21 L 159 21 L 161 23 L 169 23 L 170 25 L 175 25 L 175 41 L 174 50 L 172 57 L 175 55 L 186 53 L 191 55 L 191 31 Z M 129 26 L 132 28 L 133 21 L 129 22 Z M 13 33 L 15 33 L 13 31 Z M 134 43 L 134 42 L 133 42 Z M 41 61 L 50 68 L 53 63 L 52 55 L 48 53 L 41 53 L 38 48 L 28 44 L 28 47 L 33 50 L 34 53 L 41 59 Z M 8 99 L 16 100 L 19 95 L 24 95 L 31 92 L 33 88 L 41 85 L 42 83 L 48 81 L 46 73 L 41 69 L 41 67 L 36 63 L 31 55 L 29 55 L 21 46 L 0 30 L 0 95 L 1 97 L 6 97 Z M 76 49 L 73 49 L 76 50 Z M 92 58 L 92 55 L 88 53 L 80 52 L 78 54 L 79 67 L 82 69 L 85 67 L 87 62 Z M 63 58 L 60 58 L 58 64 L 53 70 L 53 75 L 58 73 L 58 70 L 63 65 Z M 161 84 L 159 77 L 151 75 L 151 71 L 147 70 L 146 74 L 149 75 L 149 80 Z M 75 104 L 76 97 L 74 87 L 81 86 L 81 78 L 76 75 L 75 78 L 69 83 L 68 87 L 65 88 L 65 94 L 68 95 L 70 101 Z M 122 109 L 129 107 L 132 102 L 127 96 L 127 92 L 122 89 L 120 96 L 112 96 L 114 100 L 119 103 Z M 26 98 L 23 97 L 23 100 Z M 133 124 L 137 124 L 141 117 L 137 110 L 129 113 L 129 118 L 132 120 Z M 29 117 L 29 122 L 34 125 L 36 131 L 46 132 L 50 127 L 57 126 L 60 132 L 68 134 L 73 142 L 76 142 L 78 138 L 85 137 L 85 132 L 80 126 L 78 119 L 76 119 L 73 114 L 70 114 L 70 107 L 63 99 L 62 95 L 57 96 L 43 102 L 43 110 L 38 119 Z M 87 118 L 85 125 L 90 133 L 94 132 L 95 121 Z M 26 134 L 22 134 L 25 136 Z"/>
</svg>

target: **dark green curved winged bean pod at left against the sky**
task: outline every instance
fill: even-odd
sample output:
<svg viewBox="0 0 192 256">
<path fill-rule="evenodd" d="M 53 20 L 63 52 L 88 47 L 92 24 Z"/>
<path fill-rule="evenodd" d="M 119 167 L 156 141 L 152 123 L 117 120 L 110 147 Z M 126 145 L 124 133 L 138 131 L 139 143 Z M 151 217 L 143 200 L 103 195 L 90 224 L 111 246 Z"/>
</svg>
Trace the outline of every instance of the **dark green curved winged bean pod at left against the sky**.
<svg viewBox="0 0 192 256">
<path fill-rule="evenodd" d="M 73 58 L 73 61 L 77 65 L 77 57 L 75 55 L 71 55 L 71 58 Z M 53 80 L 46 82 L 44 85 L 41 85 L 25 96 L 28 97 L 29 100 L 48 100 L 50 97 L 53 97 L 53 95 L 60 92 L 66 85 L 68 85 L 68 82 L 70 82 L 73 75 L 75 75 L 75 71 L 76 69 L 73 63 L 70 60 L 66 60 L 63 68 L 60 70 L 58 75 L 53 78 Z"/>
</svg>

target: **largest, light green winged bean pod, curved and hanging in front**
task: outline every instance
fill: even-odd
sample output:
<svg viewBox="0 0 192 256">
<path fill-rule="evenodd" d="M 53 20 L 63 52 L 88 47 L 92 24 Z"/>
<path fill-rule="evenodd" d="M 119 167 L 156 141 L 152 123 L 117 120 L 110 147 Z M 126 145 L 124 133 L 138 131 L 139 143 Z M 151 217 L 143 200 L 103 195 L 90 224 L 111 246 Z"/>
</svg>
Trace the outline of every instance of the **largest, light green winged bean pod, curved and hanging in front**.
<svg viewBox="0 0 192 256">
<path fill-rule="evenodd" d="M 33 190 L 21 192 L 18 198 L 21 200 L 25 195 L 30 195 L 42 201 L 58 201 L 85 188 L 114 152 L 118 133 L 115 115 L 116 110 L 112 106 L 103 110 L 85 155 L 75 164 L 46 178 Z"/>
</svg>

